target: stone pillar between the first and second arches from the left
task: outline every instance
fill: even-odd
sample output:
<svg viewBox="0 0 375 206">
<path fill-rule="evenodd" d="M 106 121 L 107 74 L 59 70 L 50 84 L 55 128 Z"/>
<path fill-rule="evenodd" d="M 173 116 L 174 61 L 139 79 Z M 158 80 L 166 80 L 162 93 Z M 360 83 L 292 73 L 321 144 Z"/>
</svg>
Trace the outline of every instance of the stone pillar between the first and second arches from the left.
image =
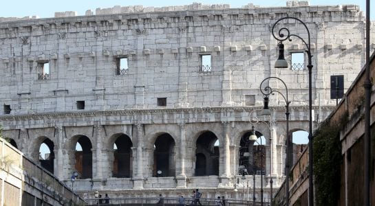
<svg viewBox="0 0 375 206">
<path fill-rule="evenodd" d="M 57 144 L 54 146 L 54 173 L 56 174 L 58 179 L 63 179 L 64 177 L 64 157 L 63 157 L 63 127 L 56 126 L 55 127 L 55 135 Z"/>
</svg>

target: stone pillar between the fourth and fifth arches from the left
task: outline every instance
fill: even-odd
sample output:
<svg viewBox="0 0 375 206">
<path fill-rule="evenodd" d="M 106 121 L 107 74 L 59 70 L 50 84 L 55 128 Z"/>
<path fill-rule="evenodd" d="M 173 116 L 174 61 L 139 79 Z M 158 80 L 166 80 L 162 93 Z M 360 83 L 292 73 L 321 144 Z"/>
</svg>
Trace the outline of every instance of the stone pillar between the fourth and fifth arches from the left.
<svg viewBox="0 0 375 206">
<path fill-rule="evenodd" d="M 186 124 L 180 125 L 180 174 L 176 176 L 177 188 L 186 188 L 185 159 L 186 159 Z"/>
</svg>

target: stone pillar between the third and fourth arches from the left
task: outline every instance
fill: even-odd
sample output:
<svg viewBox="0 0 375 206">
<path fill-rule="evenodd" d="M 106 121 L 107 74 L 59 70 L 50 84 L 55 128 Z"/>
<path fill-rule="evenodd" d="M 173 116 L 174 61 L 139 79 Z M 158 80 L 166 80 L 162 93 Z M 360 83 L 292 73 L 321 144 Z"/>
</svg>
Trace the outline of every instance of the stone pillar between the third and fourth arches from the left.
<svg viewBox="0 0 375 206">
<path fill-rule="evenodd" d="M 143 144 L 143 124 L 136 124 L 137 131 L 136 131 L 136 137 L 138 139 L 138 146 L 132 148 L 133 151 L 135 150 L 136 152 L 136 170 L 135 175 L 133 177 L 133 189 L 143 189 L 143 154 L 142 154 L 142 144 Z"/>
</svg>

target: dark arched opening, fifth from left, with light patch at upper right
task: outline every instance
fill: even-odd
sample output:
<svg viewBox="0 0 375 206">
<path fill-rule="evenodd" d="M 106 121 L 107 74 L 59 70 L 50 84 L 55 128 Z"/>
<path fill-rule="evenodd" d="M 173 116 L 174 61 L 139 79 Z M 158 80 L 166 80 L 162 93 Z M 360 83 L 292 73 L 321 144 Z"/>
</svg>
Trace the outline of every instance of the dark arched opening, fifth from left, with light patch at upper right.
<svg viewBox="0 0 375 206">
<path fill-rule="evenodd" d="M 219 175 L 219 139 L 212 132 L 198 137 L 195 150 L 195 176 Z"/>
</svg>

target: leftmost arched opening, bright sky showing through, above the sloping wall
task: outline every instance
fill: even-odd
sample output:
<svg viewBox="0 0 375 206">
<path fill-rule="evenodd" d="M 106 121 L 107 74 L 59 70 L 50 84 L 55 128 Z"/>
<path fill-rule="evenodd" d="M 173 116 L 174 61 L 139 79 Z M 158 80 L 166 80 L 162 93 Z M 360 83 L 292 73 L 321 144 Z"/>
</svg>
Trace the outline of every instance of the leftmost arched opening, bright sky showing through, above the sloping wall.
<svg viewBox="0 0 375 206">
<path fill-rule="evenodd" d="M 54 142 L 48 138 L 39 147 L 39 162 L 45 170 L 54 174 Z"/>
</svg>

